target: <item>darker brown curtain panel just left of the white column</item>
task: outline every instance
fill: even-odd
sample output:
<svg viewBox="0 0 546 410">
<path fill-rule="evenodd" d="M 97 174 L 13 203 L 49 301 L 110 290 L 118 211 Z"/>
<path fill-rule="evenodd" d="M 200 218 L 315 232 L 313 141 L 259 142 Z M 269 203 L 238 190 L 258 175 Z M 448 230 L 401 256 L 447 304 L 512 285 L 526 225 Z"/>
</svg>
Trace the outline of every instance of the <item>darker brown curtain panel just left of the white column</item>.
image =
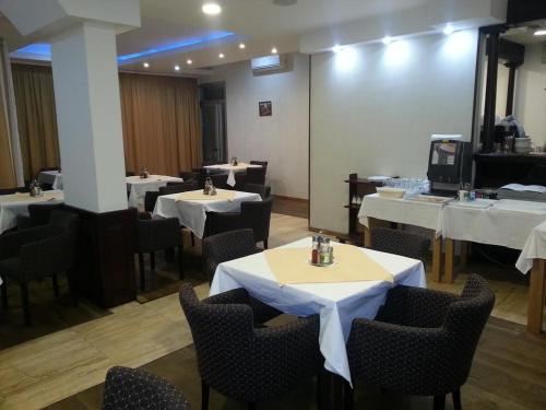
<svg viewBox="0 0 546 410">
<path fill-rule="evenodd" d="M 13 65 L 19 136 L 25 179 L 60 165 L 54 78 L 50 67 Z"/>
</svg>

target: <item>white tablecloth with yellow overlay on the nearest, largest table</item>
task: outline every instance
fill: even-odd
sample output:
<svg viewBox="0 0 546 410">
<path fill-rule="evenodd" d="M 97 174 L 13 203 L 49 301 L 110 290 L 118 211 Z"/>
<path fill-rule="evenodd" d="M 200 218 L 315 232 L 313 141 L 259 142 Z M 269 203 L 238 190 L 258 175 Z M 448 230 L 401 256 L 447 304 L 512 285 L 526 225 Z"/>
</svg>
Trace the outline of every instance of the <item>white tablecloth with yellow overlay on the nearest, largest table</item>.
<svg viewBox="0 0 546 410">
<path fill-rule="evenodd" d="M 324 367 L 351 383 L 345 343 L 353 319 L 373 318 L 394 285 L 426 286 L 420 260 L 332 243 L 334 262 L 310 265 L 311 238 L 218 265 L 210 295 L 246 289 L 287 314 L 320 315 Z"/>
</svg>

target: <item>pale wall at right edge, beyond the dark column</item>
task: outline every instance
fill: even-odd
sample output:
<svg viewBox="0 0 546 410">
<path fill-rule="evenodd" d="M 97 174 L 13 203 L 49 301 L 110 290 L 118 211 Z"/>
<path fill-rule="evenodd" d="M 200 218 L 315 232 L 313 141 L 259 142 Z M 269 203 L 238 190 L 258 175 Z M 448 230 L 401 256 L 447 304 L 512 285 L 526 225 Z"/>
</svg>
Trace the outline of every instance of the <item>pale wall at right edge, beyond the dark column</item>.
<svg viewBox="0 0 546 410">
<path fill-rule="evenodd" d="M 525 46 L 525 62 L 517 71 L 515 117 L 535 145 L 546 144 L 546 63 L 541 44 Z"/>
</svg>

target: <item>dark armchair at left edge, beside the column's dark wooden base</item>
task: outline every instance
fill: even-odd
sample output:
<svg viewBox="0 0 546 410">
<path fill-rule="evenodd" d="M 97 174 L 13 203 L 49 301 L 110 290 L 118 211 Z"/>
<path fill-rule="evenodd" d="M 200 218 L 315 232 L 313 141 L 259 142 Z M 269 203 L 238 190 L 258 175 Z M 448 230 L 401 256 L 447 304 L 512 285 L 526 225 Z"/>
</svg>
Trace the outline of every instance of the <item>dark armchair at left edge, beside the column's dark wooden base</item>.
<svg viewBox="0 0 546 410">
<path fill-rule="evenodd" d="M 76 213 L 54 210 L 49 224 L 0 236 L 0 277 L 4 283 L 2 305 L 8 308 L 8 283 L 12 280 L 21 286 L 25 325 L 31 324 L 28 309 L 28 282 L 52 278 L 55 295 L 59 295 L 57 274 L 67 272 L 72 296 L 75 298 L 73 280 L 80 216 Z"/>
</svg>

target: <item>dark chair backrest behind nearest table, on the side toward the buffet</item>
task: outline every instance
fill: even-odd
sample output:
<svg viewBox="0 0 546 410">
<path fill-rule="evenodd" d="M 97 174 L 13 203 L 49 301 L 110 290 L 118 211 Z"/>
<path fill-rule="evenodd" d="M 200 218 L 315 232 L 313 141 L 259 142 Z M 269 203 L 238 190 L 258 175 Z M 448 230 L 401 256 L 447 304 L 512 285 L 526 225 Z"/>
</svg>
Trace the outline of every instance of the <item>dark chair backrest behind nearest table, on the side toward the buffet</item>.
<svg viewBox="0 0 546 410">
<path fill-rule="evenodd" d="M 371 248 L 424 260 L 428 255 L 430 239 L 423 235 L 388 227 L 375 227 L 371 230 Z"/>
</svg>

